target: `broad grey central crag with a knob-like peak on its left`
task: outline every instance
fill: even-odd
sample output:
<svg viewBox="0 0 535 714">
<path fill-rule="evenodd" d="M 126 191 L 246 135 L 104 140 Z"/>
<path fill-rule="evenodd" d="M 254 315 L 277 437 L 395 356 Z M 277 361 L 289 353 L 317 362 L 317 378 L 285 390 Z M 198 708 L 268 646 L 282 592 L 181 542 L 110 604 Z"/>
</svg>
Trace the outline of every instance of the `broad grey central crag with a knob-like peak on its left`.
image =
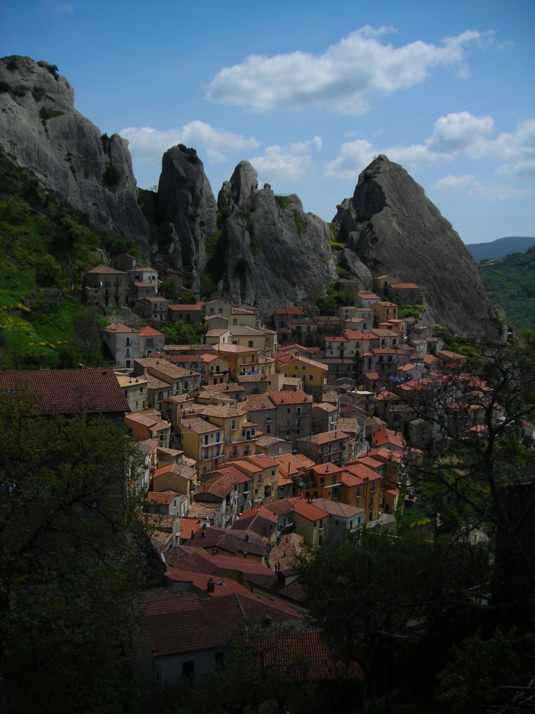
<svg viewBox="0 0 535 714">
<path fill-rule="evenodd" d="M 230 297 L 258 306 L 266 317 L 274 308 L 325 293 L 336 278 L 336 264 L 327 223 L 304 213 L 295 194 L 275 196 L 268 185 L 259 190 L 257 177 L 253 166 L 242 161 L 223 184 L 218 248 Z"/>
</svg>

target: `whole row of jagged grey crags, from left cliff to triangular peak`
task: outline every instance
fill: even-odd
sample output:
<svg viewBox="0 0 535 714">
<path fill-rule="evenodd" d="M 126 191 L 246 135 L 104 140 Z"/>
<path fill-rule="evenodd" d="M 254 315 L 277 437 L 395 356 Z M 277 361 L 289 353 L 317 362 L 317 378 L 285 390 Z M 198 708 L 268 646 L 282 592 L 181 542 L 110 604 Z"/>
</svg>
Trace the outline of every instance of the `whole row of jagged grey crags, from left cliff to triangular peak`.
<svg viewBox="0 0 535 714">
<path fill-rule="evenodd" d="M 352 198 L 338 206 L 335 241 L 330 226 L 305 213 L 295 194 L 275 196 L 269 184 L 258 188 L 248 161 L 236 166 L 216 201 L 197 152 L 181 145 L 165 152 L 158 191 L 143 192 L 142 211 L 128 142 L 100 134 L 73 101 L 71 85 L 54 65 L 29 57 L 0 60 L 4 149 L 75 208 L 85 208 L 97 226 L 133 239 L 141 261 L 182 268 L 197 295 L 203 283 L 217 286 L 234 301 L 257 304 L 267 318 L 274 308 L 314 301 L 340 274 L 369 289 L 372 272 L 382 271 L 421 284 L 428 323 L 478 339 L 501 338 L 459 236 L 423 188 L 387 157 L 372 162 Z M 158 244 L 150 237 L 154 231 Z M 209 259 L 208 241 L 217 260 Z M 414 255 L 420 259 L 410 260 Z"/>
</svg>

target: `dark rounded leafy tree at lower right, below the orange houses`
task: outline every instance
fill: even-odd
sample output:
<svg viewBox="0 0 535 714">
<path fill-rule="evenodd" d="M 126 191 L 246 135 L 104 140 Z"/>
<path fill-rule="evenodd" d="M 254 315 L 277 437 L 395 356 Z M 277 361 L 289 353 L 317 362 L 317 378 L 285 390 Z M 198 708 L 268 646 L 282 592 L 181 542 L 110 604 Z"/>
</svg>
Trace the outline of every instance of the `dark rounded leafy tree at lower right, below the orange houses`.
<svg viewBox="0 0 535 714">
<path fill-rule="evenodd" d="M 487 554 L 414 531 L 328 540 L 300 559 L 312 617 L 341 657 L 362 668 L 362 701 L 433 675 L 472 608 Z M 431 679 L 429 679 L 431 681 Z"/>
</svg>

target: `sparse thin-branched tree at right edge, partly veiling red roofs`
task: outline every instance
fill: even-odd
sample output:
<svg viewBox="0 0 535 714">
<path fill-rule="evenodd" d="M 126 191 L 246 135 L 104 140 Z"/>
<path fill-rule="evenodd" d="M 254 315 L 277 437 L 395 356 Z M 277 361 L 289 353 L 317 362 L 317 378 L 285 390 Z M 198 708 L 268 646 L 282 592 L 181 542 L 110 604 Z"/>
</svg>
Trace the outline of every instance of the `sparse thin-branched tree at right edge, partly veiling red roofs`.
<svg viewBox="0 0 535 714">
<path fill-rule="evenodd" d="M 516 617 L 531 626 L 535 557 L 526 538 L 535 509 L 535 451 L 522 442 L 521 424 L 535 421 L 535 350 L 505 346 L 483 358 L 477 378 L 454 371 L 407 398 L 435 433 L 424 458 L 409 455 L 407 478 L 417 496 L 442 493 L 437 513 L 442 504 L 444 511 L 454 508 L 465 532 L 494 532 L 494 603 L 514 605 Z M 469 436 L 464 419 L 474 412 L 479 436 Z"/>
</svg>

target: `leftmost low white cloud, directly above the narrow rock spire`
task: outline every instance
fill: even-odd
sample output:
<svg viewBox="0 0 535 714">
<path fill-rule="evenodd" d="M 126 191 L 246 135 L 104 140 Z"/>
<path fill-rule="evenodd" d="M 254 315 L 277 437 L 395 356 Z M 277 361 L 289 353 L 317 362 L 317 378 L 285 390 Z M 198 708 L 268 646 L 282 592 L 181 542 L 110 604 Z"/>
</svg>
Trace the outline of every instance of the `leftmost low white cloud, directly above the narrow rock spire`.
<svg viewBox="0 0 535 714">
<path fill-rule="evenodd" d="M 213 163 L 225 161 L 228 154 L 237 151 L 250 151 L 260 146 L 256 139 L 246 139 L 241 134 L 214 129 L 204 121 L 190 121 L 181 129 L 159 131 L 150 126 L 127 127 L 119 132 L 128 139 L 132 160 L 136 164 L 159 164 L 162 156 L 176 144 L 193 146 L 199 154 L 205 154 Z"/>
</svg>

